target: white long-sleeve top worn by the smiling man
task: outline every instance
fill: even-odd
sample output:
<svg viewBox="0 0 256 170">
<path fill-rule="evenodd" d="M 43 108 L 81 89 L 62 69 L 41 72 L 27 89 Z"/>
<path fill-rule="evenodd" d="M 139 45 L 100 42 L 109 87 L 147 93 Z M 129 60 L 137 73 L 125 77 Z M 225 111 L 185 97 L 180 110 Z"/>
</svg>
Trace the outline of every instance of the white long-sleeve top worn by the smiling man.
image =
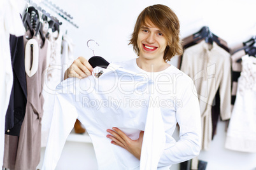
<svg viewBox="0 0 256 170">
<path fill-rule="evenodd" d="M 197 91 L 192 79 L 173 65 L 161 72 L 140 69 L 136 58 L 118 65 L 150 77 L 155 82 L 166 134 L 166 144 L 158 169 L 169 169 L 172 164 L 196 157 L 201 148 L 201 119 Z M 172 135 L 177 123 L 180 126 L 180 140 L 175 141 Z"/>
</svg>

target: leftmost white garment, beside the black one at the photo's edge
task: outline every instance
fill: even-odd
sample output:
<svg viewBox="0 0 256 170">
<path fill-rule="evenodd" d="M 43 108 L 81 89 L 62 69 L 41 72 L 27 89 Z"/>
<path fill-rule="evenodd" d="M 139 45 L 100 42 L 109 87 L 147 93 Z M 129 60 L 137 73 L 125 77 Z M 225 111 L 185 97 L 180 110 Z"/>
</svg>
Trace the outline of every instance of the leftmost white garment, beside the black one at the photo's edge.
<svg viewBox="0 0 256 170">
<path fill-rule="evenodd" d="M 23 36 L 25 28 L 18 13 L 17 1 L 0 1 L 0 167 L 3 166 L 5 115 L 8 108 L 13 71 L 11 67 L 10 34 Z"/>
</svg>

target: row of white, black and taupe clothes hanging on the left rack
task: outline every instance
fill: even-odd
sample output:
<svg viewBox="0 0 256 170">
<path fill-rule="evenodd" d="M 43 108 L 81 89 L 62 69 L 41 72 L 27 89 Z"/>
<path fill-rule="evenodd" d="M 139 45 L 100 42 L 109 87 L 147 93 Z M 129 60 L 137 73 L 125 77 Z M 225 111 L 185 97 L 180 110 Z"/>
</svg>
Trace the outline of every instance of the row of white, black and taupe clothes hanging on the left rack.
<svg viewBox="0 0 256 170">
<path fill-rule="evenodd" d="M 47 129 L 50 128 L 48 124 L 53 114 L 53 110 L 47 109 L 51 108 L 52 103 L 48 101 L 54 98 L 55 93 L 47 93 L 47 90 L 54 91 L 54 86 L 63 79 L 63 70 L 73 62 L 73 43 L 68 35 L 62 35 L 59 22 L 49 18 L 48 14 L 46 16 L 45 11 L 30 6 L 21 17 L 18 11 L 12 9 L 13 4 L 4 5 L 10 6 L 7 10 L 13 13 L 4 11 L 4 18 L 1 18 L 1 23 L 9 23 L 10 26 L 1 29 L 6 36 L 3 44 L 8 44 L 8 48 L 6 45 L 1 49 L 5 54 L 1 56 L 5 57 L 2 60 L 6 63 L 10 60 L 12 72 L 9 73 L 7 67 L 1 67 L 6 68 L 3 73 L 9 82 L 1 88 L 8 94 L 4 96 L 1 93 L 3 101 L 6 101 L 6 106 L 1 107 L 6 108 L 5 111 L 1 110 L 4 112 L 1 117 L 5 117 L 1 121 L 6 121 L 3 121 L 5 128 L 1 127 L 5 129 L 5 134 L 1 134 L 0 163 L 1 167 L 3 165 L 11 170 L 36 169 L 40 161 L 41 143 L 46 145 Z M 3 20 L 5 18 L 7 21 Z M 11 23 L 8 20 L 17 22 Z M 10 36 L 10 33 L 15 36 Z"/>
</svg>

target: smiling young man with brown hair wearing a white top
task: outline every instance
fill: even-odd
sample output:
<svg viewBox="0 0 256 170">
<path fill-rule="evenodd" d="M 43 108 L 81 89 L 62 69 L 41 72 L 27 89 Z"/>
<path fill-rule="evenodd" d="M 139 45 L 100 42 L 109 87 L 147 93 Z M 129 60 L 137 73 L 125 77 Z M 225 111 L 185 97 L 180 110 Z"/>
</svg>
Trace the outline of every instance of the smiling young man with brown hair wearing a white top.
<svg viewBox="0 0 256 170">
<path fill-rule="evenodd" d="M 167 63 L 174 55 L 182 53 L 179 34 L 178 18 L 170 8 L 161 4 L 148 6 L 138 16 L 129 43 L 138 58 L 118 63 L 124 69 L 144 74 L 155 82 L 154 93 L 159 97 L 157 102 L 160 103 L 166 133 L 159 169 L 168 169 L 171 164 L 192 159 L 201 148 L 201 118 L 194 83 L 190 77 Z M 83 79 L 91 72 L 89 62 L 79 57 L 66 70 L 64 79 Z M 180 126 L 179 141 L 172 137 L 177 123 Z M 143 131 L 138 140 L 131 140 L 118 128 L 107 131 L 111 143 L 125 148 L 140 159 Z"/>
</svg>

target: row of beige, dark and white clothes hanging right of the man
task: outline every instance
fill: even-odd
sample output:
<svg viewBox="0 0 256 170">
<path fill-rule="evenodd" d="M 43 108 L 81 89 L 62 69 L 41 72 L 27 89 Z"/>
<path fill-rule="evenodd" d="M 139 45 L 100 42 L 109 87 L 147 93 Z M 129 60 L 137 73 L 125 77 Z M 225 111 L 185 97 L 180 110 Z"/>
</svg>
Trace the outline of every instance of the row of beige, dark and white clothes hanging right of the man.
<svg viewBox="0 0 256 170">
<path fill-rule="evenodd" d="M 199 93 L 197 95 L 199 96 L 203 125 L 203 150 L 210 148 L 210 141 L 213 140 L 213 136 L 216 133 L 218 117 L 220 115 L 222 121 L 227 121 L 227 126 L 229 119 L 232 120 L 228 126 L 225 147 L 232 150 L 242 150 L 244 152 L 250 150 L 250 152 L 255 152 L 252 149 L 255 146 L 250 145 L 246 147 L 246 145 L 243 145 L 243 143 L 248 143 L 248 140 L 244 140 L 246 138 L 243 135 L 248 134 L 245 133 L 246 130 L 254 134 L 256 129 L 250 126 L 253 123 L 248 124 L 250 120 L 255 120 L 253 112 L 256 112 L 252 104 L 252 102 L 255 102 L 254 86 L 256 84 L 253 82 L 254 78 L 252 78 L 255 77 L 255 58 L 253 58 L 253 56 L 256 56 L 255 39 L 256 36 L 253 36 L 248 41 L 239 44 L 239 46 L 229 49 L 227 42 L 210 32 L 209 27 L 203 27 L 199 32 L 183 39 L 184 52 L 180 56 L 178 66 L 183 72 L 194 79 L 197 93 Z M 241 72 L 242 65 L 243 71 Z M 241 78 L 239 78 L 240 74 L 243 75 Z M 238 84 L 238 79 L 241 79 L 241 85 Z M 245 82 L 252 85 L 250 88 L 247 88 L 251 93 L 245 90 L 245 86 L 243 86 Z M 240 86 L 239 89 L 238 86 Z M 241 91 L 246 92 L 243 92 L 243 95 L 241 95 Z M 238 101 L 236 101 L 236 93 L 239 94 Z M 248 94 L 252 96 L 249 97 Z M 252 100 L 252 102 L 247 102 L 248 100 Z M 236 107 L 232 109 L 235 101 Z M 246 106 L 242 103 L 246 103 Z M 242 108 L 249 109 L 247 117 L 244 110 L 241 110 Z M 245 128 L 238 130 L 238 126 L 236 126 L 238 121 L 241 126 L 242 124 L 248 124 L 246 130 Z M 237 132 L 241 132 L 241 135 L 234 135 L 238 134 Z M 239 139 L 240 142 L 237 142 L 234 138 Z M 252 143 L 252 141 L 255 142 L 256 138 L 252 137 L 250 142 Z M 181 163 L 181 169 L 205 169 L 206 164 L 207 162 L 198 161 L 196 158 L 191 162 Z"/>
</svg>

